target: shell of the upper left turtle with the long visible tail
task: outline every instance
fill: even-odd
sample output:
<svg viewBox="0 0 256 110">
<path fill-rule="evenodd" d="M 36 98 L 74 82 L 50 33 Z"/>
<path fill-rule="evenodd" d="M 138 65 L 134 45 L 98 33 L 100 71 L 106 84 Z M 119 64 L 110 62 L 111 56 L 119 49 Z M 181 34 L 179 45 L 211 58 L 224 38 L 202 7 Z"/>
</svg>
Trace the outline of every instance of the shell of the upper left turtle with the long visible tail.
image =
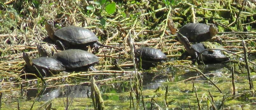
<svg viewBox="0 0 256 110">
<path fill-rule="evenodd" d="M 76 26 L 63 27 L 55 32 L 55 36 L 73 44 L 86 44 L 98 40 L 90 30 Z"/>
</svg>

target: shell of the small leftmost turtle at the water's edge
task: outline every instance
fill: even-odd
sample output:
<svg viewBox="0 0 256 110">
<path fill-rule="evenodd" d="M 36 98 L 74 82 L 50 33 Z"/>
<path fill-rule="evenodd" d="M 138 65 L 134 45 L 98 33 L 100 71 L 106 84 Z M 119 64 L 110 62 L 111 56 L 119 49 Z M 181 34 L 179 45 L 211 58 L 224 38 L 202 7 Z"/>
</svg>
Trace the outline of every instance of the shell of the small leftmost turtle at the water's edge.
<svg viewBox="0 0 256 110">
<path fill-rule="evenodd" d="M 53 70 L 53 71 L 62 71 L 65 70 L 63 64 L 50 57 L 38 57 L 38 58 L 33 58 L 32 63 L 40 68 L 45 68 L 47 70 Z"/>
</svg>

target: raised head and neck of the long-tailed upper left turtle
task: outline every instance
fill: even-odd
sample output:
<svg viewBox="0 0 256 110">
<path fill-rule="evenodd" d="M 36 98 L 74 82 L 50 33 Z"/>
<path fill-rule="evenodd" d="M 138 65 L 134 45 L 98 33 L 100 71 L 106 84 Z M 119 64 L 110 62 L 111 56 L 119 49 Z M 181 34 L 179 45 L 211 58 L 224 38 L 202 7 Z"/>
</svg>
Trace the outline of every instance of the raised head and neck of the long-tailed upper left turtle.
<svg viewBox="0 0 256 110">
<path fill-rule="evenodd" d="M 45 29 L 49 35 L 49 37 L 53 40 L 56 41 L 56 37 L 55 37 L 55 30 L 54 30 L 54 26 L 53 23 L 49 20 L 47 20 L 45 22 Z"/>
</svg>

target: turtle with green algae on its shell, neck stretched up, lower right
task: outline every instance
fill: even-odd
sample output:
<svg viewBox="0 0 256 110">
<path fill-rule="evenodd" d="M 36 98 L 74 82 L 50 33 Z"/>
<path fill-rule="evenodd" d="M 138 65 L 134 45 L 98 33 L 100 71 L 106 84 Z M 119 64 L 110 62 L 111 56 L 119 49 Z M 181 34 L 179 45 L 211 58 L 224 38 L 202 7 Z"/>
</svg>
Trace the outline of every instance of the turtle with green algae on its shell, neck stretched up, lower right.
<svg viewBox="0 0 256 110">
<path fill-rule="evenodd" d="M 193 59 L 193 64 L 197 61 L 198 63 L 202 61 L 203 63 L 221 63 L 224 61 L 230 60 L 227 56 L 227 53 L 222 52 L 221 50 L 207 50 L 208 48 L 216 48 L 216 49 L 224 49 L 220 45 L 217 45 L 217 43 L 211 43 L 211 42 L 201 42 L 196 43 L 194 45 L 190 45 L 188 38 L 178 33 L 178 39 L 181 42 L 181 44 L 185 47 L 187 50 L 185 53 L 183 53 L 180 57 L 181 60 L 184 60 L 187 58 L 188 55 L 190 55 Z M 204 52 L 203 52 L 204 51 Z M 203 53 L 202 53 L 203 52 Z M 199 59 L 196 59 L 197 56 L 200 54 Z"/>
</svg>

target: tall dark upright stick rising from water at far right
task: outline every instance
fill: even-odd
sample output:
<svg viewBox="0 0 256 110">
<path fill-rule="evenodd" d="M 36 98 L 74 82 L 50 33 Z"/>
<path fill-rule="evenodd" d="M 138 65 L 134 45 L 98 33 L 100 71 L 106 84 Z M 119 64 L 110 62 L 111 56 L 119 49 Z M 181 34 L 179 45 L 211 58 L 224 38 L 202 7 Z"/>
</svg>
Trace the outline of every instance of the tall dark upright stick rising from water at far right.
<svg viewBox="0 0 256 110">
<path fill-rule="evenodd" d="M 249 68 L 249 65 L 248 65 L 248 56 L 247 56 L 247 48 L 246 48 L 246 45 L 245 45 L 245 41 L 242 40 L 242 45 L 244 47 L 244 59 L 245 59 L 245 67 L 247 69 L 247 73 L 248 73 L 248 80 L 249 80 L 249 86 L 250 86 L 250 89 L 253 89 L 252 87 L 252 79 L 251 79 L 251 75 L 250 75 L 250 68 Z"/>
</svg>

